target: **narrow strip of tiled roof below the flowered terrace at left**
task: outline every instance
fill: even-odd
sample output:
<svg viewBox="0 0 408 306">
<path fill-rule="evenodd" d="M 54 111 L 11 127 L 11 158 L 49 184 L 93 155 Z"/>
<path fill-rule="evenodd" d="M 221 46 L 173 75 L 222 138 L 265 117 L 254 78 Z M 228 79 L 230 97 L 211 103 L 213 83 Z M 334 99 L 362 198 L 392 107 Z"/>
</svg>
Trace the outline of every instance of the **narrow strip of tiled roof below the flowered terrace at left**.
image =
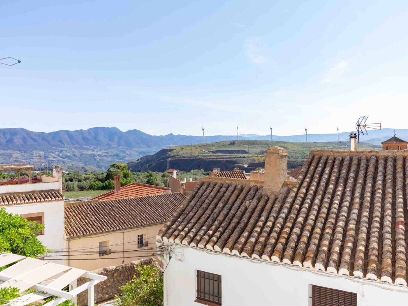
<svg viewBox="0 0 408 306">
<path fill-rule="evenodd" d="M 22 193 L 5 193 L 0 195 L 0 206 L 21 205 L 51 201 L 63 201 L 64 195 L 57 190 L 44 190 Z"/>
</svg>

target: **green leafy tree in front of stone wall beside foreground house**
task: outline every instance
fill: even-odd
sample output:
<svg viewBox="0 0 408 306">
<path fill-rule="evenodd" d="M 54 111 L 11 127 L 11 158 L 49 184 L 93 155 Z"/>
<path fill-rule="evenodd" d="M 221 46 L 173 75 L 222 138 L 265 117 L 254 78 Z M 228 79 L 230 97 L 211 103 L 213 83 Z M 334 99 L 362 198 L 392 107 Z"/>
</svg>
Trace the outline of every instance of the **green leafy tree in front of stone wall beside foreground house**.
<svg viewBox="0 0 408 306">
<path fill-rule="evenodd" d="M 135 266 L 133 279 L 120 287 L 115 306 L 162 306 L 163 305 L 163 273 L 156 264 Z"/>
</svg>

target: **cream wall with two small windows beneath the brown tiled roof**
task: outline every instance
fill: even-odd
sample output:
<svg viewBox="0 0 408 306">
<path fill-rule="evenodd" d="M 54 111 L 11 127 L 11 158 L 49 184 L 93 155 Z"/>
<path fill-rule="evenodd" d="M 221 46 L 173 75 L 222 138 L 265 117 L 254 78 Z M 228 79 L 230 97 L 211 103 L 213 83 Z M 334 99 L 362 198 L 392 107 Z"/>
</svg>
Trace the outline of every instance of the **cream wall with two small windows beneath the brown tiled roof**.
<svg viewBox="0 0 408 306">
<path fill-rule="evenodd" d="M 157 253 L 157 246 L 155 243 L 156 235 L 160 228 L 162 228 L 162 226 L 163 224 L 156 224 L 151 226 L 114 231 L 111 233 L 102 233 L 97 235 L 67 239 L 66 248 L 67 250 L 69 248 L 70 256 L 69 260 L 67 257 L 65 264 L 74 268 L 93 271 L 103 267 L 122 264 L 122 260 L 124 260 L 124 263 L 126 263 L 146 257 L 153 257 L 157 261 L 157 256 L 152 256 L 152 254 Z M 148 246 L 144 248 L 137 248 L 137 235 L 142 234 L 147 235 Z M 109 240 L 109 248 L 111 249 L 111 251 L 118 253 L 99 256 L 99 242 L 103 242 L 106 240 Z M 133 252 L 130 252 L 131 250 L 133 250 Z M 80 252 L 84 251 L 89 251 L 89 253 L 93 254 L 81 255 Z M 158 263 L 160 264 L 160 262 Z"/>
</svg>

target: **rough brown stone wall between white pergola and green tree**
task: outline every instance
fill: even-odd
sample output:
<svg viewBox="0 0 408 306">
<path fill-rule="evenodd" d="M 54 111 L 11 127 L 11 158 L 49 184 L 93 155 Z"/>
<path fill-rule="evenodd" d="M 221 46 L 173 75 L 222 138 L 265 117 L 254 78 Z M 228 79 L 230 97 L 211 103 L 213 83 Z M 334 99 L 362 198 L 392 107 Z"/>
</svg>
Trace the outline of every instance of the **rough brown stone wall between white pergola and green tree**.
<svg viewBox="0 0 408 306">
<path fill-rule="evenodd" d="M 133 275 L 135 275 L 136 272 L 135 266 L 139 263 L 142 263 L 143 265 L 149 265 L 152 263 L 157 264 L 153 258 L 146 258 L 134 262 L 128 262 L 126 264 L 120 264 L 118 266 L 100 268 L 98 270 L 91 271 L 91 273 L 108 277 L 104 282 L 100 282 L 95 286 L 95 303 L 113 298 L 116 294 L 119 294 L 119 287 L 133 279 Z M 88 278 L 80 277 L 78 278 L 77 286 L 80 286 L 88 281 Z M 87 305 L 87 303 L 88 290 L 80 293 L 77 296 L 78 305 Z"/>
</svg>

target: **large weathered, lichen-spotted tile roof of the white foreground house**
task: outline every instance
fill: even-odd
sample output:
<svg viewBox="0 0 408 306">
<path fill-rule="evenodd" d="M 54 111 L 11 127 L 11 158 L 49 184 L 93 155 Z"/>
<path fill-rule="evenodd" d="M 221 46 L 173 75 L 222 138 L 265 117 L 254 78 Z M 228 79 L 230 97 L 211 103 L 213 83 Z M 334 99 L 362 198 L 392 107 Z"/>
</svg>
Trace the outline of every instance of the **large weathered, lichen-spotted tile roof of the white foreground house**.
<svg viewBox="0 0 408 306">
<path fill-rule="evenodd" d="M 406 286 L 408 154 L 311 151 L 297 184 L 201 180 L 157 239 Z"/>
</svg>

